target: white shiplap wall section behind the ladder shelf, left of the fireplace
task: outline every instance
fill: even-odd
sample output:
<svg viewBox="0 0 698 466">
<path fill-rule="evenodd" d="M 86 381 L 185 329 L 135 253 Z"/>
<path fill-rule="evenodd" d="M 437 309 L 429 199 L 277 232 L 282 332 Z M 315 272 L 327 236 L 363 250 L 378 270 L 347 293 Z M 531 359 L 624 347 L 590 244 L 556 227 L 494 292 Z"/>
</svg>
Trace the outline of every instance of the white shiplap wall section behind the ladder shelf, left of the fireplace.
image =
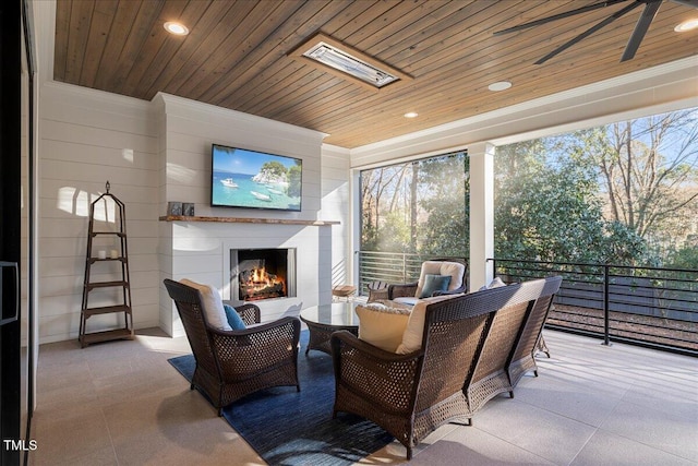
<svg viewBox="0 0 698 466">
<path fill-rule="evenodd" d="M 105 191 L 127 204 L 136 328 L 158 323 L 157 126 L 152 105 L 47 83 L 39 95 L 39 339 L 77 337 L 89 203 Z M 116 324 L 94 316 L 88 331 Z"/>
</svg>

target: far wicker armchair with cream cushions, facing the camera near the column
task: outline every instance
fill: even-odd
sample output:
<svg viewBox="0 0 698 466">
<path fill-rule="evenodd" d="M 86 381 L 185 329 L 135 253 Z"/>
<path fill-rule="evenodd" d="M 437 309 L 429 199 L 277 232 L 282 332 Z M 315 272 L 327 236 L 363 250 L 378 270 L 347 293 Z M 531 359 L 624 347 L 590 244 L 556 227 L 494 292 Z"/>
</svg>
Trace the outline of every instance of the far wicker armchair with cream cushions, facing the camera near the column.
<svg viewBox="0 0 698 466">
<path fill-rule="evenodd" d="M 414 304 L 422 291 L 426 274 L 440 274 L 440 271 L 449 267 L 453 272 L 452 282 L 447 290 L 434 291 L 431 296 L 457 295 L 468 290 L 468 263 L 454 259 L 432 259 L 422 263 L 420 277 L 418 282 L 406 284 L 388 285 L 389 300 Z M 407 299 L 406 299 L 407 298 Z"/>
</svg>

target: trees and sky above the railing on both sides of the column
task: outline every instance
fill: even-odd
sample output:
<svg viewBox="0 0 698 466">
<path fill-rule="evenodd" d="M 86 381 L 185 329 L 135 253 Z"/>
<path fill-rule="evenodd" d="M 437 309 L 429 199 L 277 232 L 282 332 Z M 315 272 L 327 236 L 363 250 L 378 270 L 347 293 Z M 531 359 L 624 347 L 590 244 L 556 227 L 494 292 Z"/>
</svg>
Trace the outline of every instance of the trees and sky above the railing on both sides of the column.
<svg viewBox="0 0 698 466">
<path fill-rule="evenodd" d="M 497 147 L 495 256 L 698 270 L 698 110 Z M 364 250 L 469 253 L 468 157 L 361 175 Z"/>
</svg>

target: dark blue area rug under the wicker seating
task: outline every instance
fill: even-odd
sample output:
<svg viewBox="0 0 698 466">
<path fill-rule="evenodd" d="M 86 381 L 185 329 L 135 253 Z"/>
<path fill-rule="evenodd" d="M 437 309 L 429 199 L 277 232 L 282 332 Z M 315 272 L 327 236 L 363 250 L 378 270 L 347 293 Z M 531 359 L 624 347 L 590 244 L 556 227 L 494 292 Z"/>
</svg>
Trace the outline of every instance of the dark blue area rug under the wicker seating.
<svg viewBox="0 0 698 466">
<path fill-rule="evenodd" d="M 335 377 L 332 358 L 304 355 L 308 331 L 301 333 L 298 356 L 300 393 L 293 386 L 264 390 L 224 409 L 224 417 L 270 465 L 347 465 L 393 441 L 375 423 L 340 413 L 332 418 Z M 191 381 L 192 355 L 169 362 Z"/>
</svg>

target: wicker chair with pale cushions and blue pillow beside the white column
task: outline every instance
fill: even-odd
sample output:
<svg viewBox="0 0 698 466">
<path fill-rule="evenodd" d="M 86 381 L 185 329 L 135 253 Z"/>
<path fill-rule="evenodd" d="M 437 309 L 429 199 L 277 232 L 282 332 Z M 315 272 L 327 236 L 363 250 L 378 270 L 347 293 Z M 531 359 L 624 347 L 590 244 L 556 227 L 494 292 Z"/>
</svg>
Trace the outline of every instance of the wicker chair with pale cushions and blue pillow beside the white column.
<svg viewBox="0 0 698 466">
<path fill-rule="evenodd" d="M 444 285 L 443 279 L 449 277 Z M 418 299 L 457 295 L 468 290 L 468 264 L 453 259 L 433 259 L 422 263 L 418 282 L 388 286 L 388 298 L 402 304 L 414 306 Z"/>
</svg>

